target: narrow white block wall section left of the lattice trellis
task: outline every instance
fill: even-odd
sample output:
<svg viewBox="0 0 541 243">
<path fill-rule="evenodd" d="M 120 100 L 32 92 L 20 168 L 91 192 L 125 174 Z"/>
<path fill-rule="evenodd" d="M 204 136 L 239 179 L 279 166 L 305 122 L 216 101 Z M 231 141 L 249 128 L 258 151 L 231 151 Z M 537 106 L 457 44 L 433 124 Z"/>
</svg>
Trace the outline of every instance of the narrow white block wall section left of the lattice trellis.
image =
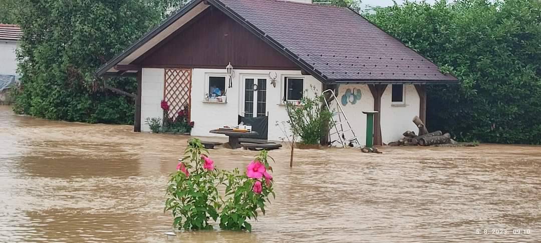
<svg viewBox="0 0 541 243">
<path fill-rule="evenodd" d="M 147 118 L 163 118 L 160 103 L 163 99 L 164 69 L 143 69 L 141 90 L 141 131 L 149 132 Z"/>
</svg>

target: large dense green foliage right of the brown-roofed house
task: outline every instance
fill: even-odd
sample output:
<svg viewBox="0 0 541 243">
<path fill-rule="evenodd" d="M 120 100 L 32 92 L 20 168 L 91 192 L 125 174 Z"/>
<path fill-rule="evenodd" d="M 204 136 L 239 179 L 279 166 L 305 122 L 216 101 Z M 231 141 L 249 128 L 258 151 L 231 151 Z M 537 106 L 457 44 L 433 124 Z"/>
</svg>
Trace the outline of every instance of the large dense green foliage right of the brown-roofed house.
<svg viewBox="0 0 541 243">
<path fill-rule="evenodd" d="M 407 2 L 368 19 L 460 85 L 428 90 L 428 126 L 462 140 L 541 144 L 541 2 Z"/>
</svg>

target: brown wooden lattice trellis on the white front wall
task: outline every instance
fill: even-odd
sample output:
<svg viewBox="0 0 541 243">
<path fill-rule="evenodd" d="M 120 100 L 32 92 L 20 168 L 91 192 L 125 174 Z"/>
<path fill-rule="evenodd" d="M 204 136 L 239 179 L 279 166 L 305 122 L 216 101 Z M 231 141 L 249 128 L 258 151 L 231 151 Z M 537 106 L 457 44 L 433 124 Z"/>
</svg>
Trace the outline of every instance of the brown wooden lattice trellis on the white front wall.
<svg viewBox="0 0 541 243">
<path fill-rule="evenodd" d="M 163 99 L 169 104 L 169 117 L 176 119 L 179 111 L 188 106 L 188 121 L 190 120 L 192 92 L 192 70 L 191 69 L 166 69 L 165 88 Z"/>
</svg>

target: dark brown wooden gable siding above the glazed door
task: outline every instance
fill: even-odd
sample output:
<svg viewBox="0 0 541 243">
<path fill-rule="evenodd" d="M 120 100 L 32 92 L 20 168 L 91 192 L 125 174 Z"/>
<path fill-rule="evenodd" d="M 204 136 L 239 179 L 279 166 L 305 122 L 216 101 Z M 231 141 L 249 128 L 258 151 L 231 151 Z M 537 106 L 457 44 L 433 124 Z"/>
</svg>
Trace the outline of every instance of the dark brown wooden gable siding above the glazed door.
<svg viewBox="0 0 541 243">
<path fill-rule="evenodd" d="M 212 7 L 149 50 L 134 64 L 145 68 L 300 70 L 270 45 Z"/>
</svg>

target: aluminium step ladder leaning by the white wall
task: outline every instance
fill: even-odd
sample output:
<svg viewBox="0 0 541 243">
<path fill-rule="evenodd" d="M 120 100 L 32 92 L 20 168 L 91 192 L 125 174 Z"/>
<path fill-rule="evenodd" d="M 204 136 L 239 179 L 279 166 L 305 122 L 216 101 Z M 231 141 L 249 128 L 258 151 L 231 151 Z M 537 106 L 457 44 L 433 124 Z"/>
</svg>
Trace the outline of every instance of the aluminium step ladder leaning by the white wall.
<svg viewBox="0 0 541 243">
<path fill-rule="evenodd" d="M 331 144 L 339 141 L 343 147 L 351 146 L 355 148 L 360 148 L 361 143 L 359 143 L 359 139 L 357 139 L 357 136 L 355 135 L 355 132 L 353 131 L 353 127 L 351 127 L 351 124 L 349 124 L 349 120 L 347 119 L 346 114 L 344 113 L 344 109 L 342 109 L 342 105 L 340 104 L 338 97 L 335 95 L 333 90 L 325 90 L 323 91 L 322 95 L 325 97 L 325 93 L 327 92 L 330 92 L 331 95 L 334 97 L 334 101 L 336 102 L 336 108 L 337 108 L 336 113 L 338 114 L 338 121 L 337 121 L 334 119 L 335 112 L 331 110 L 331 105 L 329 104 L 329 102 L 327 102 L 327 99 L 324 99 L 327 109 L 333 113 L 333 115 L 331 116 L 331 122 L 334 124 L 334 127 L 330 130 L 334 129 L 334 131 L 329 133 L 329 141 L 331 140 L 331 136 L 333 136 L 334 134 L 338 134 L 338 140 L 331 141 Z"/>
</svg>

